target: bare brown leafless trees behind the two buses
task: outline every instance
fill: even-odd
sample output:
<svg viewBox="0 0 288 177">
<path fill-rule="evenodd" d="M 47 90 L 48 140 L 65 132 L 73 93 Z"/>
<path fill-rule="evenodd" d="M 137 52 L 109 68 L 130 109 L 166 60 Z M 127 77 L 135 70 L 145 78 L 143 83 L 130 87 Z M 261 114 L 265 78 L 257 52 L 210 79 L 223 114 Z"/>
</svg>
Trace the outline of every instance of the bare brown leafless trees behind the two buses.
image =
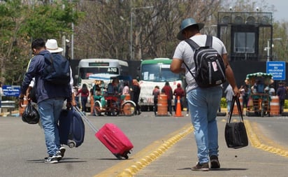
<svg viewBox="0 0 288 177">
<path fill-rule="evenodd" d="M 179 42 L 175 36 L 180 22 L 185 17 L 206 22 L 218 6 L 216 0 L 81 2 L 78 10 L 87 16 L 75 27 L 75 56 L 133 60 L 171 57 Z"/>
</svg>

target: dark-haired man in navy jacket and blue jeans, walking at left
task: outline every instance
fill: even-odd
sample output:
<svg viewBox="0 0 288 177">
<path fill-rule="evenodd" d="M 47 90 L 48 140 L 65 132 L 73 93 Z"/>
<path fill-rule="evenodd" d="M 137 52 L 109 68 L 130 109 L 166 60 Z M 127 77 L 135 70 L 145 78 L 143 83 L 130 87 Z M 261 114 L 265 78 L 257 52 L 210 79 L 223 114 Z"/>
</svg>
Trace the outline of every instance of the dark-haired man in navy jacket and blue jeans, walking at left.
<svg viewBox="0 0 288 177">
<path fill-rule="evenodd" d="M 42 78 L 41 71 L 45 69 L 44 54 L 50 54 L 45 48 L 45 41 L 42 38 L 37 38 L 31 43 L 31 49 L 35 55 L 29 62 L 27 71 L 20 89 L 19 106 L 23 104 L 24 94 L 33 78 L 35 78 L 36 99 L 38 104 L 38 112 L 41 118 L 41 124 L 45 134 L 45 144 L 47 147 L 48 157 L 45 157 L 44 162 L 53 164 L 57 163 L 62 158 L 59 148 L 59 130 L 58 120 L 62 111 L 64 100 L 67 99 L 67 105 L 71 107 L 72 96 L 71 86 L 54 85 L 48 83 Z M 50 54 L 51 55 L 51 54 Z"/>
</svg>

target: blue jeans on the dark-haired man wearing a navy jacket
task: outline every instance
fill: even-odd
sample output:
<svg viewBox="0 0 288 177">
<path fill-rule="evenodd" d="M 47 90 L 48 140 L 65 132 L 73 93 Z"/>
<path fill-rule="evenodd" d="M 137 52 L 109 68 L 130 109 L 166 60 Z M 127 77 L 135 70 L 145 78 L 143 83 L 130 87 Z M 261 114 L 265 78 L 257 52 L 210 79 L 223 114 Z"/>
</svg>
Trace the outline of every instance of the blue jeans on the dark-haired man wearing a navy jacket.
<svg viewBox="0 0 288 177">
<path fill-rule="evenodd" d="M 58 120 L 64 99 L 45 99 L 38 103 L 38 111 L 45 134 L 48 155 L 56 155 L 61 147 L 59 141 Z"/>
</svg>

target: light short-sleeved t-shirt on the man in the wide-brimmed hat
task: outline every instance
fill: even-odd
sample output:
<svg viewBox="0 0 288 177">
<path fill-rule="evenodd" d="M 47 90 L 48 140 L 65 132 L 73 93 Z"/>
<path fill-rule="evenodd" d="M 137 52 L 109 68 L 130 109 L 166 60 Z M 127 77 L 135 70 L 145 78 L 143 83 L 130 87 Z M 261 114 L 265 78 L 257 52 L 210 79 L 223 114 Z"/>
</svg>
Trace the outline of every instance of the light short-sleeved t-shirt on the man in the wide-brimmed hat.
<svg viewBox="0 0 288 177">
<path fill-rule="evenodd" d="M 196 35 L 191 37 L 191 39 L 194 42 L 196 42 L 199 46 L 204 46 L 206 44 L 206 38 L 207 38 L 206 35 Z M 222 41 L 215 36 L 213 36 L 212 47 L 215 48 L 215 50 L 217 50 L 219 55 L 227 53 L 224 43 L 222 43 Z M 190 71 L 192 71 L 192 73 L 194 74 L 195 64 L 193 57 L 194 57 L 194 50 L 192 50 L 191 46 L 185 41 L 181 41 L 177 45 L 173 55 L 173 58 L 183 59 L 184 62 L 187 64 L 187 66 L 189 66 Z M 186 92 L 189 92 L 190 90 L 193 90 L 196 87 L 198 87 L 198 85 L 196 84 L 196 81 L 191 75 L 191 73 L 187 70 L 186 66 L 182 64 L 182 67 L 186 69 L 185 71 L 185 78 L 187 82 Z"/>
</svg>

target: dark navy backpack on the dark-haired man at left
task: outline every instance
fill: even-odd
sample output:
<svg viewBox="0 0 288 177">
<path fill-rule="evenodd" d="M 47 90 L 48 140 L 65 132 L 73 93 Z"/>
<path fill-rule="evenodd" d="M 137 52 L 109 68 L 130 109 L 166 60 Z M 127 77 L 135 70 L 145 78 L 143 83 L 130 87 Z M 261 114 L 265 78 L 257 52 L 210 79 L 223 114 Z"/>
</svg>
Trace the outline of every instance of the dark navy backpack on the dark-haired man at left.
<svg viewBox="0 0 288 177">
<path fill-rule="evenodd" d="M 45 68 L 42 71 L 42 78 L 49 83 L 66 85 L 70 83 L 69 60 L 62 55 L 51 53 L 41 54 L 45 58 Z"/>
</svg>

